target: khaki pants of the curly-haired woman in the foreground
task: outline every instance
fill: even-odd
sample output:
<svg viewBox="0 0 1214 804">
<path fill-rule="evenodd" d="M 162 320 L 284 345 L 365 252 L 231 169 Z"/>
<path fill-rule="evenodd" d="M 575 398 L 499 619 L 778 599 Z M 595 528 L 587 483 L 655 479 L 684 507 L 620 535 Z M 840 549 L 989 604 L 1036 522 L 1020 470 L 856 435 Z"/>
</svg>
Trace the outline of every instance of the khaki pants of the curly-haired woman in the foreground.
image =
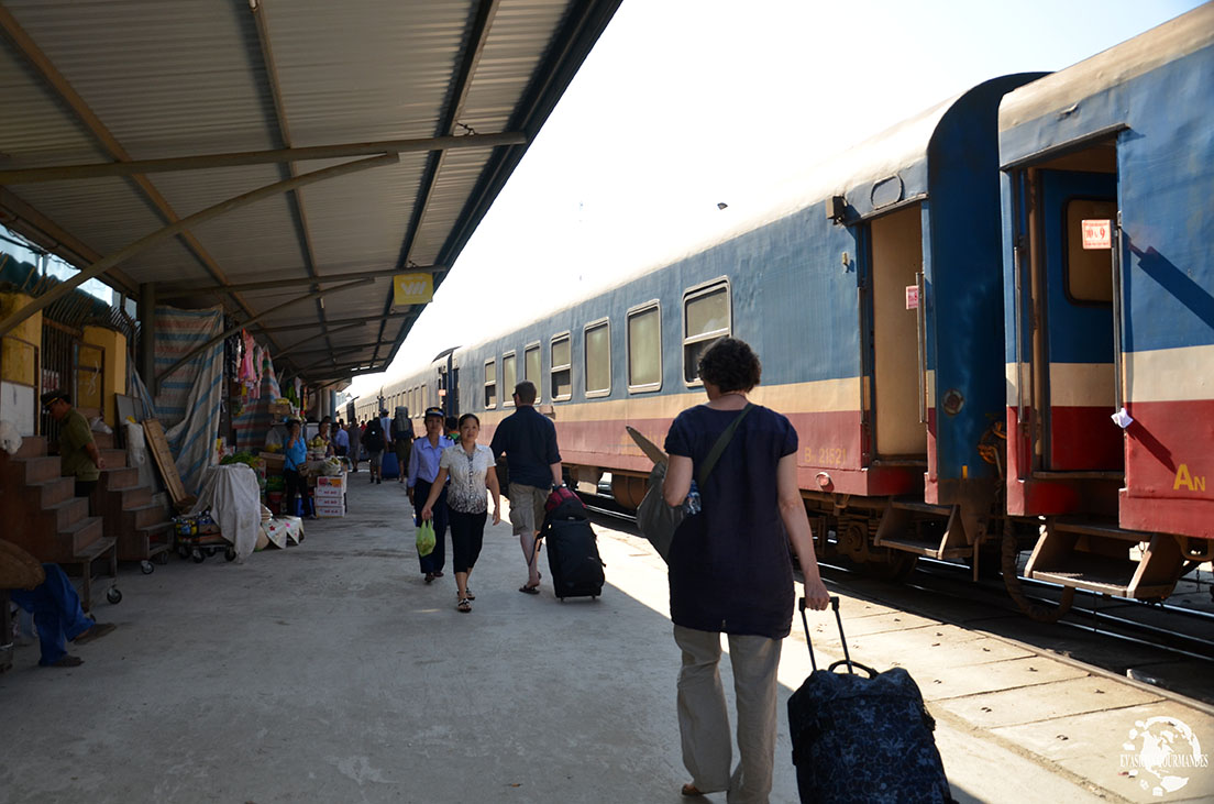
<svg viewBox="0 0 1214 804">
<path fill-rule="evenodd" d="M 730 742 L 730 713 L 721 689 L 721 635 L 675 625 L 682 650 L 679 672 L 679 730 L 683 765 L 704 793 L 728 791 L 730 804 L 766 804 L 776 758 L 776 669 L 781 640 L 734 636 L 730 664 L 738 706 L 738 765 Z"/>
</svg>

